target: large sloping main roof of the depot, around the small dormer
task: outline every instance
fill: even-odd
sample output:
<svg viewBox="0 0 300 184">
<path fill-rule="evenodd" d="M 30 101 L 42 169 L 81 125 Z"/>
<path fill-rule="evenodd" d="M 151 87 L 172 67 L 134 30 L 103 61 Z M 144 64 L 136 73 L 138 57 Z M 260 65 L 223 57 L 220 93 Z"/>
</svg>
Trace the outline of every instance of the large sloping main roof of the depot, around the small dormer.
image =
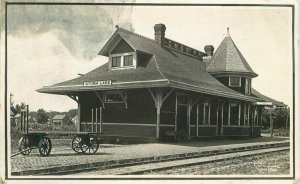
<svg viewBox="0 0 300 184">
<path fill-rule="evenodd" d="M 136 69 L 108 70 L 104 64 L 95 70 L 69 81 L 43 87 L 42 93 L 68 94 L 78 91 L 132 89 L 145 87 L 174 87 L 211 95 L 223 96 L 247 101 L 256 101 L 255 97 L 243 95 L 224 86 L 205 69 L 203 61 L 162 47 L 156 41 L 118 28 L 99 54 L 108 56 L 109 48 L 116 39 L 124 39 L 133 49 L 149 53 L 151 59 L 146 67 Z M 112 85 L 83 86 L 85 81 L 111 80 Z"/>
</svg>

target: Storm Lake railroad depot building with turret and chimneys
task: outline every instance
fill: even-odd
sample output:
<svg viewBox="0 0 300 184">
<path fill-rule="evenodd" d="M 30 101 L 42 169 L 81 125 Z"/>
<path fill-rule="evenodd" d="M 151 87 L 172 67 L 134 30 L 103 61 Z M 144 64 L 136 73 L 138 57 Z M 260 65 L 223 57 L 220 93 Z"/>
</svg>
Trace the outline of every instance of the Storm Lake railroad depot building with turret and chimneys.
<svg viewBox="0 0 300 184">
<path fill-rule="evenodd" d="M 228 35 L 214 52 L 165 37 L 163 24 L 150 39 L 116 27 L 100 50 L 107 63 L 41 93 L 78 103 L 79 132 L 104 136 L 187 139 L 260 136 L 264 105 L 283 106 L 252 87 L 258 75 Z"/>
</svg>

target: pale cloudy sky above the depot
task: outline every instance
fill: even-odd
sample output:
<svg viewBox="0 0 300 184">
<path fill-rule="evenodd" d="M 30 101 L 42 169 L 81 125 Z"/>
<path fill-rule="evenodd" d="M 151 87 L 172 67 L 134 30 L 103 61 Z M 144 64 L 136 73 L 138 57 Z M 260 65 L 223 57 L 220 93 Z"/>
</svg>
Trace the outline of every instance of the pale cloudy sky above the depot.
<svg viewBox="0 0 300 184">
<path fill-rule="evenodd" d="M 205 45 L 216 50 L 229 27 L 259 74 L 252 86 L 292 105 L 291 9 L 279 7 L 9 5 L 8 93 L 31 110 L 77 108 L 69 97 L 35 90 L 106 63 L 97 54 L 115 25 L 153 39 L 157 23 L 166 25 L 167 38 L 201 51 Z"/>
</svg>

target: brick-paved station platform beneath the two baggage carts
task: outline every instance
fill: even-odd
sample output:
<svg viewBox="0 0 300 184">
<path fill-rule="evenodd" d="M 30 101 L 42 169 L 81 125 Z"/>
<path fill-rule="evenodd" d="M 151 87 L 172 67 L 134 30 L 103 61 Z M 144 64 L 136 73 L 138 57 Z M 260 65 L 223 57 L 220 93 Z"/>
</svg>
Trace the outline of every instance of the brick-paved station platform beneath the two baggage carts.
<svg viewBox="0 0 300 184">
<path fill-rule="evenodd" d="M 66 171 L 80 171 L 92 168 L 107 168 L 124 163 L 143 163 L 165 159 L 183 159 L 208 152 L 252 149 L 259 146 L 286 143 L 289 138 L 249 138 L 191 141 L 180 143 L 148 143 L 132 145 L 100 145 L 94 155 L 75 153 L 71 148 L 71 140 L 53 139 L 53 147 L 49 156 L 41 157 L 38 150 L 30 155 L 17 155 L 11 158 L 11 176 L 59 175 Z M 69 145 L 68 145 L 69 144 Z"/>
</svg>

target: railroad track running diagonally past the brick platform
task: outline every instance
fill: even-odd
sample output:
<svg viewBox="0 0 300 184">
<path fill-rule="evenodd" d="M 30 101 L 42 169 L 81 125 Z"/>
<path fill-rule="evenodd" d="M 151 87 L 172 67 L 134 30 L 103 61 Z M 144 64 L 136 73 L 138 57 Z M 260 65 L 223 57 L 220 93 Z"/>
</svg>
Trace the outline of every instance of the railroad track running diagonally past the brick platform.
<svg viewBox="0 0 300 184">
<path fill-rule="evenodd" d="M 204 164 L 237 157 L 266 154 L 289 150 L 289 142 L 257 144 L 231 148 L 215 148 L 207 151 L 165 155 L 159 157 L 147 157 L 139 159 L 127 159 L 122 161 L 103 163 L 98 166 L 90 165 L 89 168 L 76 168 L 70 170 L 53 171 L 45 173 L 49 175 L 70 175 L 80 173 L 82 175 L 133 175 L 143 174 L 149 171 L 158 171 L 178 166 L 190 166 Z"/>
</svg>

